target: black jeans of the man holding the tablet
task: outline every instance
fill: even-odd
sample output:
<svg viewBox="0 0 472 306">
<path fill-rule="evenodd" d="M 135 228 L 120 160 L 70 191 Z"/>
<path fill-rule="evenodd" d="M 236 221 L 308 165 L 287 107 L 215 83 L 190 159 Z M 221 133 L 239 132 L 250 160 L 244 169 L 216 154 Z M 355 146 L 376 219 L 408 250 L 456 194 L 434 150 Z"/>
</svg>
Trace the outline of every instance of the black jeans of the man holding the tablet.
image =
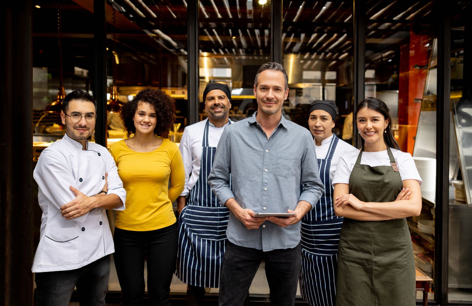
<svg viewBox="0 0 472 306">
<path fill-rule="evenodd" d="M 236 246 L 227 241 L 219 280 L 219 306 L 243 305 L 254 275 L 265 260 L 272 306 L 295 304 L 298 275 L 302 265 L 300 244 L 269 252 Z"/>
</svg>

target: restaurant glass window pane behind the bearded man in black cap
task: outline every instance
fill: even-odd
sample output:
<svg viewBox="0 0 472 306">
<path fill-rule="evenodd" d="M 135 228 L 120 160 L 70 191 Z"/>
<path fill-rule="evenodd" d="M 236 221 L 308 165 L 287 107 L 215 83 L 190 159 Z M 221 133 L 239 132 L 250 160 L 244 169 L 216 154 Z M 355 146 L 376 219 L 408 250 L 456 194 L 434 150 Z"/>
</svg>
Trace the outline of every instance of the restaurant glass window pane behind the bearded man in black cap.
<svg viewBox="0 0 472 306">
<path fill-rule="evenodd" d="M 199 120 L 207 118 L 203 90 L 208 83 L 230 88 L 231 120 L 250 117 L 257 110 L 253 85 L 257 70 L 270 61 L 270 4 L 270 0 L 199 1 Z"/>
</svg>

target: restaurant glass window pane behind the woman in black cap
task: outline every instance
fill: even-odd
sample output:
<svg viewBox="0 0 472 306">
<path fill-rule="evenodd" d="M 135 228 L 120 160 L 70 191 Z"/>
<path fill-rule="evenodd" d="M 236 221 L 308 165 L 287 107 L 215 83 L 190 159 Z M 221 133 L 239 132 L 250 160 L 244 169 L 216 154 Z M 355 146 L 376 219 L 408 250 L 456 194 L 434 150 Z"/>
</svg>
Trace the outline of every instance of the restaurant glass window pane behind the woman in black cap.
<svg viewBox="0 0 472 306">
<path fill-rule="evenodd" d="M 342 135 L 353 110 L 352 14 L 349 1 L 282 3 L 282 59 L 289 87 L 283 114 L 308 128 L 310 104 L 333 100 L 338 110 L 333 132 L 345 140 L 352 139 L 352 128 Z"/>
</svg>

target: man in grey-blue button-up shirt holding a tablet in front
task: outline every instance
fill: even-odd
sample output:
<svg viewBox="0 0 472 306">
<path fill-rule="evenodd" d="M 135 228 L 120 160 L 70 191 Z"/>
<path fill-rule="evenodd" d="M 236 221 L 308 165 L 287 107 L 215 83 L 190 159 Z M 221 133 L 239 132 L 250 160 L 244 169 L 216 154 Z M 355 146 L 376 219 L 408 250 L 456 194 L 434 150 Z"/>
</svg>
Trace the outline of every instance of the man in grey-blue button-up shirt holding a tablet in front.
<svg viewBox="0 0 472 306">
<path fill-rule="evenodd" d="M 282 65 L 259 68 L 254 96 L 258 110 L 226 127 L 208 178 L 219 202 L 231 212 L 219 305 L 243 304 L 262 259 L 272 305 L 294 305 L 302 256 L 299 221 L 318 202 L 324 186 L 310 132 L 282 116 L 288 96 Z M 254 218 L 258 212 L 295 215 Z"/>
</svg>

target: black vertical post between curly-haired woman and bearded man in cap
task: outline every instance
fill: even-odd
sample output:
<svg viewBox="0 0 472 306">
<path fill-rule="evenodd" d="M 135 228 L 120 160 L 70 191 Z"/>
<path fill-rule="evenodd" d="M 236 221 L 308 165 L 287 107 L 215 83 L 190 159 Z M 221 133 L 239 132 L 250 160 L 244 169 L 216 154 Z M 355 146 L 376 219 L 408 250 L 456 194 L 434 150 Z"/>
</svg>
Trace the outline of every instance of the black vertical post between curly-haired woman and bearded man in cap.
<svg viewBox="0 0 472 306">
<path fill-rule="evenodd" d="M 187 102 L 188 102 L 188 124 L 198 122 L 198 107 L 200 100 L 198 98 L 199 88 L 199 65 L 198 55 L 200 46 L 199 39 L 199 9 L 198 0 L 187 2 Z"/>
</svg>

